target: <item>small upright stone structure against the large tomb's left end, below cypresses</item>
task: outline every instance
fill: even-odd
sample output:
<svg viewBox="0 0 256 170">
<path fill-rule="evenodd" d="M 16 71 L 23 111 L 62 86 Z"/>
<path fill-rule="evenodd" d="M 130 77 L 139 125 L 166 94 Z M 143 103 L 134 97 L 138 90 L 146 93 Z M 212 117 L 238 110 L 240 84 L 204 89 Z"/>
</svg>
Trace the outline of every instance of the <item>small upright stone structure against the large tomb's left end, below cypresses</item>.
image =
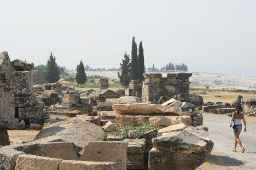
<svg viewBox="0 0 256 170">
<path fill-rule="evenodd" d="M 142 81 L 141 80 L 131 80 L 129 84 L 129 95 L 136 96 L 142 101 Z"/>
</svg>

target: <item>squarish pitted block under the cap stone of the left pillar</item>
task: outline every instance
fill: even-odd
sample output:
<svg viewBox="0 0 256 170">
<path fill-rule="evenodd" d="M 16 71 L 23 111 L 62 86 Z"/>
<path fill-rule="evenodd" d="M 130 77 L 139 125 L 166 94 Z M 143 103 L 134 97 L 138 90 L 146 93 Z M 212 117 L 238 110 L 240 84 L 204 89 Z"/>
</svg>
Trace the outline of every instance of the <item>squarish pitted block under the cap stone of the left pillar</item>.
<svg viewBox="0 0 256 170">
<path fill-rule="evenodd" d="M 30 96 L 33 93 L 32 71 L 16 71 L 13 83 L 16 86 L 14 96 Z"/>
</svg>

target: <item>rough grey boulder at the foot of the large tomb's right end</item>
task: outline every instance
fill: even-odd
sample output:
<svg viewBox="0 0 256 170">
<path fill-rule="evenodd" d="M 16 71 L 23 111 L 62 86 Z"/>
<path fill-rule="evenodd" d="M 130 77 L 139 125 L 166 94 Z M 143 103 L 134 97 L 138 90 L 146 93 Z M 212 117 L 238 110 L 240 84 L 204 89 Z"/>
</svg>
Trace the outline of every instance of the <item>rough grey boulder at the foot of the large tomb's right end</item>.
<svg viewBox="0 0 256 170">
<path fill-rule="evenodd" d="M 175 95 L 174 99 L 176 99 L 177 101 L 180 101 L 180 102 L 186 102 L 186 103 L 194 104 L 196 106 L 200 106 L 200 105 L 204 104 L 204 99 L 200 95 L 182 93 L 182 94 L 179 94 L 179 95 Z"/>
</svg>

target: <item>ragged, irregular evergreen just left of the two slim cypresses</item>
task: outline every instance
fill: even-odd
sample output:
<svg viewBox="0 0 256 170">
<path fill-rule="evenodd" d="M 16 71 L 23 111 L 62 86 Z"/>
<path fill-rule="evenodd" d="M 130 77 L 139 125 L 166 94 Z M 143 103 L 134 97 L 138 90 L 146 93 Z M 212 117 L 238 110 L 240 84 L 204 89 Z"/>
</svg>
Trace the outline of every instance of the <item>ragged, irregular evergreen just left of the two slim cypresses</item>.
<svg viewBox="0 0 256 170">
<path fill-rule="evenodd" d="M 131 83 L 131 62 L 129 57 L 130 55 L 127 55 L 126 53 L 123 55 L 122 64 L 120 64 L 122 68 L 121 75 L 119 71 L 117 73 L 121 85 L 123 88 L 126 87 L 126 90 L 129 83 Z"/>
</svg>

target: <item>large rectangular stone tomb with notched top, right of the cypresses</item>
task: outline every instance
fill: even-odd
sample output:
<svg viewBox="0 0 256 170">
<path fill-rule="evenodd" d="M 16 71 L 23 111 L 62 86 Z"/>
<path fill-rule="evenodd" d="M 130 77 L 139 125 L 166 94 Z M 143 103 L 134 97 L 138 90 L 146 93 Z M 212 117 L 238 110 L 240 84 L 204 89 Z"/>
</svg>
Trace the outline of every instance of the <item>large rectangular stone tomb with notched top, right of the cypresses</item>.
<svg viewBox="0 0 256 170">
<path fill-rule="evenodd" d="M 189 94 L 189 77 L 192 73 L 178 74 L 143 74 L 145 81 L 142 86 L 142 101 L 151 103 L 158 101 L 161 96 L 174 96 L 181 93 Z"/>
</svg>

